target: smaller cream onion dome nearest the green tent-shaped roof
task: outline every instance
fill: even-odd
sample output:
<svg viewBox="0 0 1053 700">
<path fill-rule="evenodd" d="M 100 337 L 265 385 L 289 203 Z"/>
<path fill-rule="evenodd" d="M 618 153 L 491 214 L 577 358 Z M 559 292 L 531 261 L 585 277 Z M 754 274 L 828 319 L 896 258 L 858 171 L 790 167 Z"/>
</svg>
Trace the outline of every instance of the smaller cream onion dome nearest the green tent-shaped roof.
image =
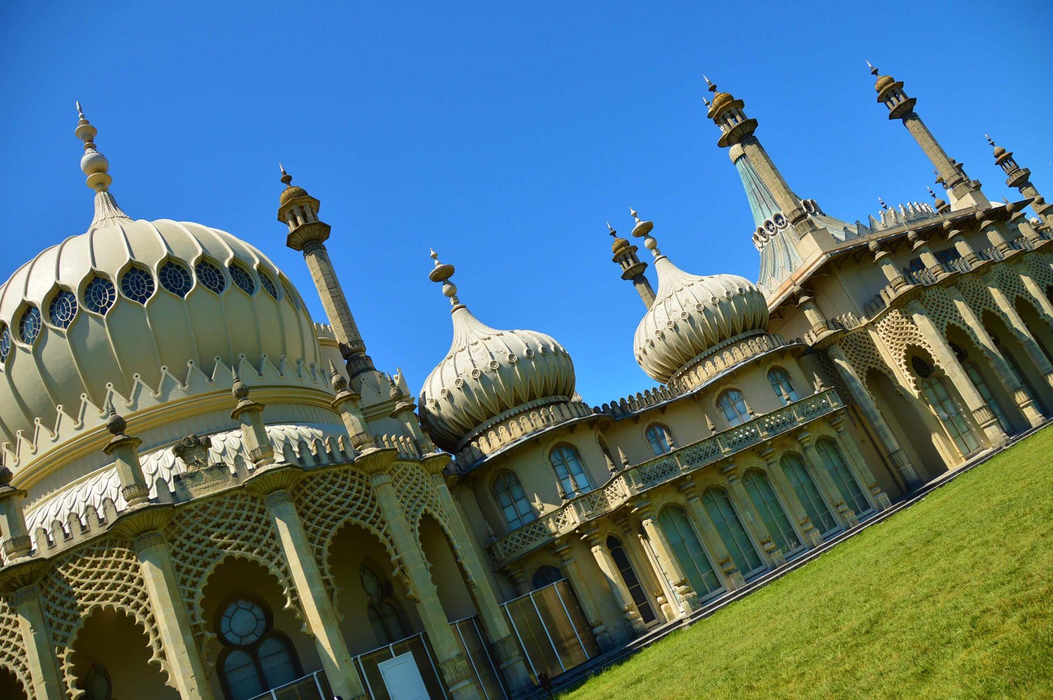
<svg viewBox="0 0 1053 700">
<path fill-rule="evenodd" d="M 635 213 L 634 213 L 635 216 Z M 764 333 L 768 302 L 756 284 L 737 275 L 691 275 L 658 251 L 653 224 L 636 218 L 643 245 L 655 257 L 658 291 L 636 327 L 636 361 L 649 377 L 669 383 L 729 341 Z"/>
</svg>

